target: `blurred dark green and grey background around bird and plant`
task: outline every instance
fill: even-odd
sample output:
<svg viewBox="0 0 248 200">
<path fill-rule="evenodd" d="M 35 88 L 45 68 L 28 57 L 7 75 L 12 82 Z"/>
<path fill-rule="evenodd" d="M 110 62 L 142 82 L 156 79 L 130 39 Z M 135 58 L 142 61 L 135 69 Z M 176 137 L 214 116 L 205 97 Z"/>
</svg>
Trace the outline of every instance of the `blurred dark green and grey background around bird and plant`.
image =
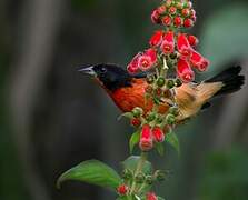
<svg viewBox="0 0 248 200">
<path fill-rule="evenodd" d="M 126 66 L 158 27 L 159 0 L 0 1 L 0 199 L 115 199 L 109 191 L 56 179 L 96 158 L 116 169 L 128 157 L 127 122 L 79 66 Z M 240 63 L 248 76 L 247 0 L 195 0 L 206 76 Z M 167 200 L 248 199 L 248 88 L 216 99 L 177 132 L 182 154 L 168 147 L 150 160 L 171 177 L 156 192 Z"/>
</svg>

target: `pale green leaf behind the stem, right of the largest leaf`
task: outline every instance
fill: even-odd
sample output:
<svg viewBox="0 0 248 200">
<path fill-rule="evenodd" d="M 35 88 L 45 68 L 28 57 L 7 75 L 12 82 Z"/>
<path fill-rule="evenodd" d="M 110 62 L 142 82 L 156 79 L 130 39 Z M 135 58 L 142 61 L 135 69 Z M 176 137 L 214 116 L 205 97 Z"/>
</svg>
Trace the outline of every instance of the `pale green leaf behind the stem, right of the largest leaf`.
<svg viewBox="0 0 248 200">
<path fill-rule="evenodd" d="M 140 157 L 131 156 L 127 160 L 122 162 L 125 169 L 129 169 L 131 171 L 136 171 L 137 164 L 139 162 Z M 146 174 L 150 174 L 152 170 L 151 163 L 149 161 L 145 161 L 142 166 L 142 172 Z"/>
</svg>

